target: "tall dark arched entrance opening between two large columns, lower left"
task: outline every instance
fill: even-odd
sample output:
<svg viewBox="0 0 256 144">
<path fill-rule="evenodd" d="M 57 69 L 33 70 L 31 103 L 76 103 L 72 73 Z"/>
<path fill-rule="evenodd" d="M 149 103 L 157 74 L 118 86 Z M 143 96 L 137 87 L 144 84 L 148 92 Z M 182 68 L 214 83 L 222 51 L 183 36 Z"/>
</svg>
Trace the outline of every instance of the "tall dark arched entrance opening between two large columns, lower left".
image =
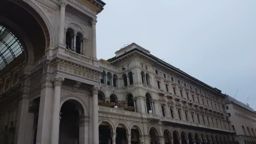
<svg viewBox="0 0 256 144">
<path fill-rule="evenodd" d="M 82 144 L 85 137 L 85 113 L 76 100 L 67 100 L 61 106 L 59 144 Z"/>
</svg>

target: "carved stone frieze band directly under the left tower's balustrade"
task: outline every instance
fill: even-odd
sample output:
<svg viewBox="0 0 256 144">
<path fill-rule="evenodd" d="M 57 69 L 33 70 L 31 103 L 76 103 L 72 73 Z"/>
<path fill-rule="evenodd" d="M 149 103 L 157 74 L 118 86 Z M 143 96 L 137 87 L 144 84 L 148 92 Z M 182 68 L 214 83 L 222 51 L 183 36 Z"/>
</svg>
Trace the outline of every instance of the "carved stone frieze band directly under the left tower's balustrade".
<svg viewBox="0 0 256 144">
<path fill-rule="evenodd" d="M 65 65 L 58 64 L 58 70 L 68 72 L 70 74 L 77 75 L 80 77 L 85 77 L 91 80 L 99 81 L 99 75 L 91 74 L 82 69 L 75 69 L 73 67 L 67 67 Z"/>
</svg>

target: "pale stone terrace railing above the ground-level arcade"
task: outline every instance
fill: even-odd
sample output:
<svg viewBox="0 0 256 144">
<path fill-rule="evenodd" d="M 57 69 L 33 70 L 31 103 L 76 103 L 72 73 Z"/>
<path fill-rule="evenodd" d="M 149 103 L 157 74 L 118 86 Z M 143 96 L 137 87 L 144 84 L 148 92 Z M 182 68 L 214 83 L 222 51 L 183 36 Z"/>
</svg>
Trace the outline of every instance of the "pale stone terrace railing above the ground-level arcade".
<svg viewBox="0 0 256 144">
<path fill-rule="evenodd" d="M 118 115 L 127 115 L 127 116 L 133 116 L 133 117 L 141 117 L 141 113 L 130 112 L 130 111 L 127 111 L 127 110 L 115 109 L 115 108 L 111 108 L 111 107 L 99 106 L 99 112 L 109 112 L 109 113 L 114 113 L 114 114 L 118 114 Z"/>
</svg>

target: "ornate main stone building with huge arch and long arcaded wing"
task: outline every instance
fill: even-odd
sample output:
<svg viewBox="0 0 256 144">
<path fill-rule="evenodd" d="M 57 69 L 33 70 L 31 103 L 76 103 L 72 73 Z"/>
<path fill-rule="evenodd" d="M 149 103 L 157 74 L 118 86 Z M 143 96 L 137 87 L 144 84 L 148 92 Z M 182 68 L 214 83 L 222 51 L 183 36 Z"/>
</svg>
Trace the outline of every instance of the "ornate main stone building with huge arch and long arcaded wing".
<svg viewBox="0 0 256 144">
<path fill-rule="evenodd" d="M 0 144 L 232 144 L 225 95 L 132 43 L 96 56 L 101 0 L 2 0 Z"/>
</svg>

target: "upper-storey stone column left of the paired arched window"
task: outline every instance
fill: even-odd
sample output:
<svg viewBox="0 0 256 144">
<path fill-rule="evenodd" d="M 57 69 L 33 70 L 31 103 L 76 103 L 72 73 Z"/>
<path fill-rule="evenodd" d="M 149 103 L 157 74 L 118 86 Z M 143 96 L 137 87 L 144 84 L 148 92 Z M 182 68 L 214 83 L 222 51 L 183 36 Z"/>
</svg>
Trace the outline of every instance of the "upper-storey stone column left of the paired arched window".
<svg viewBox="0 0 256 144">
<path fill-rule="evenodd" d="M 61 0 L 60 3 L 60 16 L 59 16 L 59 39 L 58 44 L 64 46 L 64 25 L 65 25 L 65 8 L 66 3 Z"/>
</svg>

